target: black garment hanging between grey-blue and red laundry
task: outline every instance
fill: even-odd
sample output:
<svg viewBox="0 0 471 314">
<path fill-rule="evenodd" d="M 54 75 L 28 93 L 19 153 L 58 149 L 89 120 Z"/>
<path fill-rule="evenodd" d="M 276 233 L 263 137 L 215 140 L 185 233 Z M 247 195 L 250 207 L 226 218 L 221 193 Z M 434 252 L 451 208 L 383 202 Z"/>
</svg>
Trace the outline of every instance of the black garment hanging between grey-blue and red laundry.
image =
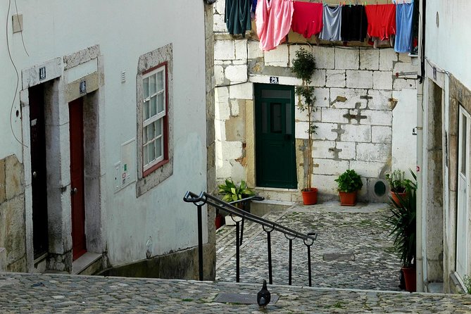
<svg viewBox="0 0 471 314">
<path fill-rule="evenodd" d="M 363 42 L 368 30 L 365 6 L 341 7 L 341 39 L 344 42 Z"/>
</svg>

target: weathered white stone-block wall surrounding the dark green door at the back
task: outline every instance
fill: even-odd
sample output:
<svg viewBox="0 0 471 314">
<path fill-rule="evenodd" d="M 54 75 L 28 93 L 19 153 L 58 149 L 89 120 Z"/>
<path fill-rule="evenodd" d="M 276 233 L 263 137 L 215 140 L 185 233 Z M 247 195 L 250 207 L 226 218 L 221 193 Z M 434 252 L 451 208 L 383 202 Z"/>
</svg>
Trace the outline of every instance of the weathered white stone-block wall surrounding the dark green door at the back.
<svg viewBox="0 0 471 314">
<path fill-rule="evenodd" d="M 300 37 L 292 32 L 287 43 L 263 52 L 254 39 L 254 30 L 246 38 L 231 36 L 223 21 L 224 3 L 218 1 L 214 17 L 217 180 L 232 177 L 254 185 L 254 137 L 247 132 L 253 128 L 253 83 L 269 83 L 270 76 L 277 76 L 280 84 L 301 84 L 289 66 L 296 51 L 303 47 L 313 52 L 316 62 L 312 85 L 316 87 L 318 110 L 313 115 L 318 134 L 311 156 L 313 185 L 319 188 L 323 199 L 333 199 L 337 197 L 334 179 L 348 168 L 355 169 L 365 184 L 360 199 L 387 201 L 387 194 L 374 193 L 377 180 L 384 180 L 385 173 L 396 166 L 406 172 L 407 168 L 415 168 L 412 128 L 417 74 L 396 73 L 417 73 L 417 59 L 396 54 L 391 48 L 373 49 L 368 44 L 299 44 Z M 298 110 L 295 119 L 301 189 L 308 123 L 306 114 Z M 282 200 L 299 198 L 299 193 L 294 195 L 292 191 L 284 193 L 288 197 L 279 191 L 275 194 Z"/>
</svg>

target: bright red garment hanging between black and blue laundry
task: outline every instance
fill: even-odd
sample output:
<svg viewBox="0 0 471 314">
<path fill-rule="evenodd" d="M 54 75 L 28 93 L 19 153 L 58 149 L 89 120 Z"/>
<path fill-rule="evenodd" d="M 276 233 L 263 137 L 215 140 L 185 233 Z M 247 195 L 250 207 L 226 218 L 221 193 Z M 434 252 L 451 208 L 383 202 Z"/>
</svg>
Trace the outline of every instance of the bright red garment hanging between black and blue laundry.
<svg viewBox="0 0 471 314">
<path fill-rule="evenodd" d="M 396 5 L 376 4 L 365 6 L 368 18 L 368 36 L 379 40 L 389 39 L 396 34 Z"/>
</svg>

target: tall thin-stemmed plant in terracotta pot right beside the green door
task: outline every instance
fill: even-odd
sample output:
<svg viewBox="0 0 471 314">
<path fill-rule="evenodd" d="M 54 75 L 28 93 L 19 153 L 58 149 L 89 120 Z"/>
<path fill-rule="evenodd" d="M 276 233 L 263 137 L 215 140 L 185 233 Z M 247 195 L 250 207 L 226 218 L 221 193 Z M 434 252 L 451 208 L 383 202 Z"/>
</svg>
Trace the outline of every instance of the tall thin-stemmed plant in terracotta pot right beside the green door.
<svg viewBox="0 0 471 314">
<path fill-rule="evenodd" d="M 307 180 L 305 180 L 305 187 L 301 190 L 304 205 L 312 205 L 318 202 L 318 189 L 312 187 L 311 178 L 313 175 L 313 134 L 315 134 L 315 129 L 318 127 L 313 125 L 312 120 L 312 113 L 315 110 L 314 87 L 309 86 L 314 70 L 315 62 L 313 54 L 303 48 L 296 51 L 296 58 L 294 58 L 293 65 L 291 65 L 291 72 L 302 81 L 302 85 L 296 87 L 296 95 L 299 97 L 298 108 L 300 111 L 306 112 L 308 118 L 308 130 L 306 131 L 308 133 Z M 304 99 L 304 102 L 301 99 Z"/>
</svg>

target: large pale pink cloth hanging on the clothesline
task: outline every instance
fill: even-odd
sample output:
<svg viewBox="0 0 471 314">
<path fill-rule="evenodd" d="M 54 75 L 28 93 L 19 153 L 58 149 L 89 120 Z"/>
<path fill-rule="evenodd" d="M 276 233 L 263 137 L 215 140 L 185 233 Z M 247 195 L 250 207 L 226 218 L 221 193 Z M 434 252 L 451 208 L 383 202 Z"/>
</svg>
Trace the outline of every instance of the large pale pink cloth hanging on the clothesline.
<svg viewBox="0 0 471 314">
<path fill-rule="evenodd" d="M 275 49 L 291 28 L 293 2 L 291 0 L 258 0 L 255 12 L 260 49 Z"/>
</svg>

